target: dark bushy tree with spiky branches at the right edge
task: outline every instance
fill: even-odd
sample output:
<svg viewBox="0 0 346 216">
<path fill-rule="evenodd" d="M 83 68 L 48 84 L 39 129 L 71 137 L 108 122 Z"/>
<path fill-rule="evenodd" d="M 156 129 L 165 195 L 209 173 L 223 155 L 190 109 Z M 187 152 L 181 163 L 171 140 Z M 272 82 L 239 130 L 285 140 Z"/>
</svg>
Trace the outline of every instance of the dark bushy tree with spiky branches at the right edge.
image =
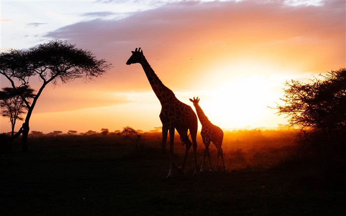
<svg viewBox="0 0 346 216">
<path fill-rule="evenodd" d="M 313 145 L 346 144 L 346 69 L 320 76 L 324 79 L 311 83 L 286 82 L 280 98 L 285 104 L 277 106 L 278 114 L 287 115 Z"/>
</svg>

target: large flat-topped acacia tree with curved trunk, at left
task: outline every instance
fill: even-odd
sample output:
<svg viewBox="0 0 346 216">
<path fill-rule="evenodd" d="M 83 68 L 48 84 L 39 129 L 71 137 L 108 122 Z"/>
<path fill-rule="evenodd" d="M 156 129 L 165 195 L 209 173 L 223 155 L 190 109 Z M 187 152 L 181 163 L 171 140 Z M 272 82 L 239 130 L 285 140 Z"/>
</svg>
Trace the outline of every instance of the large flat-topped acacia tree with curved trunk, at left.
<svg viewBox="0 0 346 216">
<path fill-rule="evenodd" d="M 61 40 L 39 44 L 28 50 L 12 49 L 0 53 L 0 74 L 14 90 L 29 86 L 29 79 L 33 77 L 41 82 L 32 103 L 17 90 L 28 108 L 23 125 L 22 151 L 28 151 L 30 117 L 45 86 L 49 83 L 53 86 L 65 84 L 77 78 L 90 81 L 105 74 L 110 67 L 110 63 L 96 59 L 91 51 L 76 48 L 75 44 Z"/>
</svg>

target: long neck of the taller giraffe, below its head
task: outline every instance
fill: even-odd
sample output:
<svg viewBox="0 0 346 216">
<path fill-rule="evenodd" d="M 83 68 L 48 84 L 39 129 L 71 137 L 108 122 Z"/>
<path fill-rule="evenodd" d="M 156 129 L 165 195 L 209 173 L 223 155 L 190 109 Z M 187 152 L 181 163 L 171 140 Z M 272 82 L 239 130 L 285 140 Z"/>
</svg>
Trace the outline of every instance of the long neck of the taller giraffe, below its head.
<svg viewBox="0 0 346 216">
<path fill-rule="evenodd" d="M 157 98 L 160 100 L 161 104 L 175 98 L 173 91 L 162 83 L 144 56 L 140 64 L 142 65 L 145 75 L 148 78 L 150 86 L 152 87 Z"/>
</svg>

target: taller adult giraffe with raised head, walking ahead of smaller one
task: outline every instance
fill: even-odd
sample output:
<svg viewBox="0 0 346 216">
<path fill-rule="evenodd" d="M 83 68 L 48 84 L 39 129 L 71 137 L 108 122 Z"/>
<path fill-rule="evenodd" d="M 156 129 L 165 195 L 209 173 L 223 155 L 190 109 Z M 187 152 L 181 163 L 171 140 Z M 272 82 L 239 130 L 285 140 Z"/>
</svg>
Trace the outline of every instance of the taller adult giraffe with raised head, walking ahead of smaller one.
<svg viewBox="0 0 346 216">
<path fill-rule="evenodd" d="M 174 131 L 176 130 L 180 135 L 180 140 L 185 144 L 185 156 L 181 164 L 180 172 L 184 171 L 185 162 L 187 154 L 193 147 L 195 156 L 195 171 L 194 175 L 197 174 L 197 127 L 198 120 L 195 112 L 192 108 L 179 101 L 173 91 L 166 87 L 158 76 L 155 74 L 154 70 L 149 65 L 148 61 L 143 55 L 143 50 L 140 47 L 132 51 L 132 55 L 126 62 L 127 65 L 139 63 L 141 64 L 148 81 L 156 94 L 157 98 L 161 103 L 161 113 L 160 120 L 162 122 L 162 150 L 166 152 L 166 141 L 168 131 L 170 131 L 170 171 L 167 177 L 172 177 L 173 170 L 173 150 L 174 150 Z M 187 130 L 190 131 L 192 143 L 187 135 Z"/>
</svg>

